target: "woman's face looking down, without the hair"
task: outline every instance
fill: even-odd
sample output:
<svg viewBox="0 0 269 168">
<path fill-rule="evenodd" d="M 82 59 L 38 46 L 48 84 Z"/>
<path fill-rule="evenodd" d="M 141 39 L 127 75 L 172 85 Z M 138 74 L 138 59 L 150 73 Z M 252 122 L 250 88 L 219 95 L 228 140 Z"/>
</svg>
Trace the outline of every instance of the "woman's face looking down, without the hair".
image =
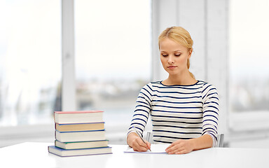
<svg viewBox="0 0 269 168">
<path fill-rule="evenodd" d="M 191 57 L 191 52 L 184 45 L 170 38 L 160 41 L 160 61 L 170 75 L 180 75 L 188 71 L 187 61 Z"/>
</svg>

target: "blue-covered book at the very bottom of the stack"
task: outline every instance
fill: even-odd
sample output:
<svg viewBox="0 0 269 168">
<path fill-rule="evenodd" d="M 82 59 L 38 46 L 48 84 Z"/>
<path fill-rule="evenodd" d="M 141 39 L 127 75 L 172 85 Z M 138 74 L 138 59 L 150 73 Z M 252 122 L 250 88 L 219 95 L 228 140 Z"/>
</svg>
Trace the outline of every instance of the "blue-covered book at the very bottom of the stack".
<svg viewBox="0 0 269 168">
<path fill-rule="evenodd" d="M 109 146 L 101 148 L 84 148 L 84 149 L 62 149 L 56 146 L 48 146 L 48 152 L 62 157 L 80 156 L 80 155 L 102 155 L 111 154 L 112 148 Z"/>
</svg>

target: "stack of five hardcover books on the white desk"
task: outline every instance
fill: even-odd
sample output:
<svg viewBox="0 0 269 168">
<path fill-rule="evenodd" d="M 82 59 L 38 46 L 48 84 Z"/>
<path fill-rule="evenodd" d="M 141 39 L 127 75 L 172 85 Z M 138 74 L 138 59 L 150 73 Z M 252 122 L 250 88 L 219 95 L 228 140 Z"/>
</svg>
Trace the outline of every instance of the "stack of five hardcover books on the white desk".
<svg viewBox="0 0 269 168">
<path fill-rule="evenodd" d="M 48 152 L 60 156 L 109 154 L 103 111 L 55 111 L 55 146 Z"/>
</svg>

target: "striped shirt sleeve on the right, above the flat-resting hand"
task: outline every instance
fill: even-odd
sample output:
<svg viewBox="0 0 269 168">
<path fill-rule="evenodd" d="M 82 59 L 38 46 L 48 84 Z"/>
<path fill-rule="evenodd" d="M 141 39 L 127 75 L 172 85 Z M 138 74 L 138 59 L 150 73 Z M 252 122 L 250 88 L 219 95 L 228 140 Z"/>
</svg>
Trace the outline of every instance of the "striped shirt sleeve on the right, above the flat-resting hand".
<svg viewBox="0 0 269 168">
<path fill-rule="evenodd" d="M 202 135 L 208 134 L 216 146 L 219 123 L 219 96 L 213 85 L 205 83 L 202 87 Z"/>
</svg>

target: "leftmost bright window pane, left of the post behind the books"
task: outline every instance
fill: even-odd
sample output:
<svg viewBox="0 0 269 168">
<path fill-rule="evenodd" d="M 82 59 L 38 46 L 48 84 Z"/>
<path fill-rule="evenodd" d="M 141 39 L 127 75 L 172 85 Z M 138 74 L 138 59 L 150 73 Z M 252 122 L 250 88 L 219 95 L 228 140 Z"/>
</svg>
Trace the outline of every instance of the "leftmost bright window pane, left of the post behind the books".
<svg viewBox="0 0 269 168">
<path fill-rule="evenodd" d="M 61 78 L 60 1 L 0 1 L 0 125 L 52 123 Z"/>
</svg>

